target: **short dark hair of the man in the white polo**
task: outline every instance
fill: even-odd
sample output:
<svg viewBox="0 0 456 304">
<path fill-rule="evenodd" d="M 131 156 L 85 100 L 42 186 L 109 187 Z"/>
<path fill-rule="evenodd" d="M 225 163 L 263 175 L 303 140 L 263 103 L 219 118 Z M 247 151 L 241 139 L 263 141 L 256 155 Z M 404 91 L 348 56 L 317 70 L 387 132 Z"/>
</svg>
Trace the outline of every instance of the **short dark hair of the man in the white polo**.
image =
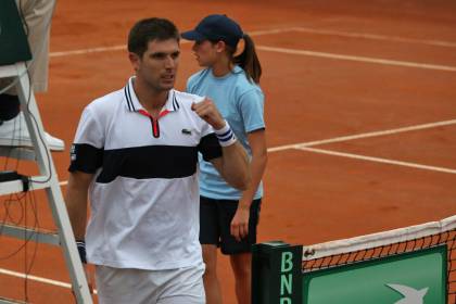
<svg viewBox="0 0 456 304">
<path fill-rule="evenodd" d="M 166 18 L 152 17 L 140 20 L 131 27 L 128 34 L 128 51 L 142 58 L 150 41 L 168 39 L 179 41 L 179 38 L 180 35 L 176 25 Z"/>
</svg>

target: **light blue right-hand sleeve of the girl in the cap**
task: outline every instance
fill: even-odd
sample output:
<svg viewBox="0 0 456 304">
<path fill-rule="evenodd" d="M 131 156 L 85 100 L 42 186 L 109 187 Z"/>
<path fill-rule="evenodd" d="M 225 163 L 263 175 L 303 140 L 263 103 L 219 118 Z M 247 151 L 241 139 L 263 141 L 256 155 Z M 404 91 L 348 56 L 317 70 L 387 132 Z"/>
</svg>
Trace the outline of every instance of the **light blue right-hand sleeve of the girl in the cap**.
<svg viewBox="0 0 456 304">
<path fill-rule="evenodd" d="M 264 129 L 264 94 L 259 89 L 249 90 L 239 99 L 241 115 L 244 122 L 244 129 L 251 132 L 257 129 Z"/>
</svg>

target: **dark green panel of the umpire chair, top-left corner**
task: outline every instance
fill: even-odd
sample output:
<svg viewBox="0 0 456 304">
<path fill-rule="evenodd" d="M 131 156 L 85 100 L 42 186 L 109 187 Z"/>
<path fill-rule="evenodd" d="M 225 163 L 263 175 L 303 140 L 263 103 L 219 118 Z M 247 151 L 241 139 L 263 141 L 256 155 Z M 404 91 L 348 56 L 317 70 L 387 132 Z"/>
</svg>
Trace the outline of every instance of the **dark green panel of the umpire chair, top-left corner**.
<svg viewBox="0 0 456 304">
<path fill-rule="evenodd" d="M 31 59 L 27 36 L 14 0 L 0 0 L 0 65 Z"/>
</svg>

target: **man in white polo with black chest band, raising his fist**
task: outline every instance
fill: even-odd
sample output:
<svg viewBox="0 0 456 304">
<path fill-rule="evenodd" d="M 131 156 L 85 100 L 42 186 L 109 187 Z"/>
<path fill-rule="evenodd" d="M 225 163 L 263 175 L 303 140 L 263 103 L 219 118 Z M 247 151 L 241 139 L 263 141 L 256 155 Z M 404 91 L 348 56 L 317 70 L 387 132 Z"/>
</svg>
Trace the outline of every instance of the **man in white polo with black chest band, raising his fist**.
<svg viewBox="0 0 456 304">
<path fill-rule="evenodd" d="M 72 147 L 66 205 L 79 254 L 97 265 L 100 303 L 204 303 L 198 152 L 242 190 L 246 154 L 211 100 L 174 89 L 173 23 L 138 22 L 128 51 L 136 76 L 84 110 Z"/>
</svg>

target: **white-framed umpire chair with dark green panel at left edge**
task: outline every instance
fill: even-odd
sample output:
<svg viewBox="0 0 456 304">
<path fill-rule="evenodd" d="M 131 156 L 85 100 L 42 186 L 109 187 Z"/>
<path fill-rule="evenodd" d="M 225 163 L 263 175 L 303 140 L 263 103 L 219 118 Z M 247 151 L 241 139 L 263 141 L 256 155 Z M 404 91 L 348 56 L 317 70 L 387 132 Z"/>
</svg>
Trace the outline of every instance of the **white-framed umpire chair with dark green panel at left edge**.
<svg viewBox="0 0 456 304">
<path fill-rule="evenodd" d="M 73 292 L 77 303 L 91 304 L 87 279 L 76 248 L 68 214 L 59 185 L 49 147 L 43 140 L 39 111 L 29 83 L 27 61 L 31 59 L 27 37 L 14 0 L 0 0 L 0 78 L 12 78 L 24 111 L 33 148 L 0 145 L 0 156 L 35 161 L 38 176 L 25 177 L 14 172 L 0 172 L 0 195 L 43 189 L 46 191 L 56 232 L 30 229 L 29 227 L 2 225 L 1 237 L 37 241 L 61 246 L 69 271 Z M 0 88 L 0 92 L 4 88 Z M 0 126 L 1 127 L 1 126 Z M 0 304 L 22 303 L 1 297 Z"/>
</svg>

